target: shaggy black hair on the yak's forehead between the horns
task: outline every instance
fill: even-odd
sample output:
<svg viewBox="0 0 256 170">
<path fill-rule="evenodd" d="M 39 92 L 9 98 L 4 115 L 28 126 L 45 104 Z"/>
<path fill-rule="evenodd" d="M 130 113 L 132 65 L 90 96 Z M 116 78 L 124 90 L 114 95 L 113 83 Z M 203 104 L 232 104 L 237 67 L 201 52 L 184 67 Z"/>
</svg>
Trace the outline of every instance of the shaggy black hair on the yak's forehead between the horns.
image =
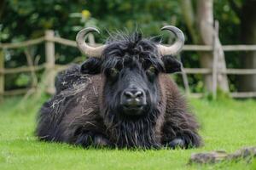
<svg viewBox="0 0 256 170">
<path fill-rule="evenodd" d="M 124 63 L 124 60 L 139 61 L 143 66 L 154 65 L 159 70 L 163 68 L 157 43 L 153 39 L 143 38 L 140 31 L 115 33 L 108 38 L 106 44 L 107 48 L 103 51 L 105 69 Z"/>
</svg>

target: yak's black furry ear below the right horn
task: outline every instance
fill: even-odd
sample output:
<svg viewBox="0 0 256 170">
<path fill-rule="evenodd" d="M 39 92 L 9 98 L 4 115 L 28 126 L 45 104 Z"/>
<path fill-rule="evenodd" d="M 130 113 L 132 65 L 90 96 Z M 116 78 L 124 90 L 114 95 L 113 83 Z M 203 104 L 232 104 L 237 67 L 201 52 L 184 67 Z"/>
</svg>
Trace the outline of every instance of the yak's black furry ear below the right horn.
<svg viewBox="0 0 256 170">
<path fill-rule="evenodd" d="M 161 59 L 165 65 L 166 73 L 181 71 L 182 63 L 178 61 L 175 57 L 171 55 L 165 55 Z"/>
</svg>

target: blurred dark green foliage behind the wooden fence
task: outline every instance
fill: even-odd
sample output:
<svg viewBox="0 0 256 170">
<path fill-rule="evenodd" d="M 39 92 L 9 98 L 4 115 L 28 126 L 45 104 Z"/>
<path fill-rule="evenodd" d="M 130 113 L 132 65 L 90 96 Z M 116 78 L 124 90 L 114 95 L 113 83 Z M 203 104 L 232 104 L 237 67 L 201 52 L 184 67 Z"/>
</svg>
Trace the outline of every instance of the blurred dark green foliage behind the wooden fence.
<svg viewBox="0 0 256 170">
<path fill-rule="evenodd" d="M 246 1 L 246 0 L 245 0 Z M 241 43 L 241 17 L 237 8 L 245 1 L 214 1 L 214 20 L 219 21 L 219 36 L 223 44 Z M 250 0 L 248 0 L 250 1 Z M 192 1 L 195 6 L 196 1 Z M 235 5 L 234 5 L 235 4 Z M 174 25 L 184 31 L 186 44 L 192 44 L 189 30 L 183 20 L 181 1 L 176 0 L 2 0 L 0 8 L 1 42 L 21 42 L 44 36 L 44 31 L 51 29 L 55 35 L 74 40 L 77 32 L 84 26 L 96 26 L 101 35 L 96 35 L 96 42 L 104 42 L 108 31 L 140 30 L 144 37 L 155 37 L 164 42 L 171 41 L 160 32 L 165 25 Z M 44 44 L 29 49 L 34 59 L 39 56 L 38 64 L 44 63 Z M 12 68 L 26 65 L 24 49 L 5 50 L 5 67 Z M 56 62 L 67 64 L 79 57 L 79 50 L 55 45 Z M 229 68 L 241 67 L 240 53 L 227 53 Z M 182 54 L 185 67 L 200 67 L 198 54 Z M 6 89 L 21 88 L 30 83 L 29 74 L 6 77 Z M 236 91 L 238 78 L 230 78 L 230 89 Z M 182 83 L 180 76 L 177 82 Z M 193 92 L 203 91 L 201 75 L 189 76 Z"/>
</svg>

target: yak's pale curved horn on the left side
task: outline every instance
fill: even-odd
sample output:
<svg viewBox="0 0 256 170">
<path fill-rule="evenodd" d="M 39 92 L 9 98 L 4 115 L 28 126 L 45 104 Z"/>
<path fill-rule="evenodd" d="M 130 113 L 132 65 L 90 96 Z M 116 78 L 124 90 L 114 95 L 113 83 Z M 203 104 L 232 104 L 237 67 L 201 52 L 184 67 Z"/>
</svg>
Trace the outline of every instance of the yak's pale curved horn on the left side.
<svg viewBox="0 0 256 170">
<path fill-rule="evenodd" d="M 79 31 L 76 37 L 78 47 L 81 53 L 83 54 L 89 55 L 90 57 L 101 57 L 102 51 L 105 48 L 105 45 L 93 48 L 87 45 L 85 42 L 86 35 L 91 31 L 96 31 L 97 33 L 100 33 L 100 31 L 98 31 L 96 28 L 93 28 L 93 27 L 84 28 L 83 30 Z"/>
</svg>

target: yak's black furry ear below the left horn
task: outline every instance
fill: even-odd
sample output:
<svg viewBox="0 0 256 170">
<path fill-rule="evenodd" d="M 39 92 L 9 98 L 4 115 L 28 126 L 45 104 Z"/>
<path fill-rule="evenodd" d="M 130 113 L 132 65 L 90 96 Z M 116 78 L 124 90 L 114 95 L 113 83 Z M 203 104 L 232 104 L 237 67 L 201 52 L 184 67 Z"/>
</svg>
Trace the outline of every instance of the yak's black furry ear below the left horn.
<svg viewBox="0 0 256 170">
<path fill-rule="evenodd" d="M 102 70 L 102 59 L 89 58 L 81 65 L 80 71 L 83 74 L 98 74 Z"/>
</svg>

